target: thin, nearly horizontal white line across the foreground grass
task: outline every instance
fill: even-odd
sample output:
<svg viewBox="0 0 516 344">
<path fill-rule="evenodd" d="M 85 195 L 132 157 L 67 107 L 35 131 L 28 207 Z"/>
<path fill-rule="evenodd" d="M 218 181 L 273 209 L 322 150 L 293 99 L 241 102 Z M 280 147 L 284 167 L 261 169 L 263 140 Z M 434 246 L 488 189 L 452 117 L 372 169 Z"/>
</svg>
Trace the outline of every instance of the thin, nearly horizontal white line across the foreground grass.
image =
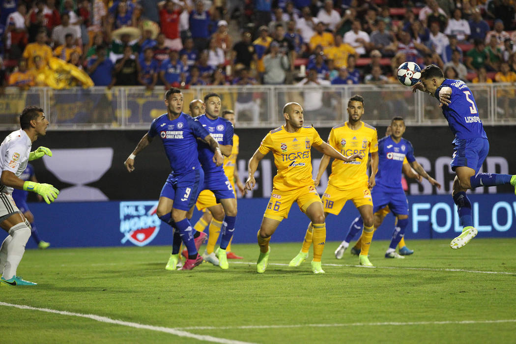
<svg viewBox="0 0 516 344">
<path fill-rule="evenodd" d="M 410 322 L 353 322 L 347 324 L 298 324 L 298 325 L 244 325 L 244 326 L 192 326 L 178 327 L 177 330 L 245 330 L 245 329 L 295 329 L 298 327 L 344 327 L 344 326 L 406 326 L 406 325 L 447 325 L 447 324 L 493 324 L 516 322 L 503 320 L 461 320 L 461 321 L 410 321 Z"/>
</svg>

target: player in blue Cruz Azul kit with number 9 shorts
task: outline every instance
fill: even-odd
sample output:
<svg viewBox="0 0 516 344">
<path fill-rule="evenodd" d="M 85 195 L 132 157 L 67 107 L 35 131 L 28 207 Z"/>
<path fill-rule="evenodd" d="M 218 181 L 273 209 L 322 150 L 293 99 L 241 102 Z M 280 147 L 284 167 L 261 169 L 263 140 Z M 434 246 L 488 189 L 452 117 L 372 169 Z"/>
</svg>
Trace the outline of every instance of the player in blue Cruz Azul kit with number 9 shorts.
<svg viewBox="0 0 516 344">
<path fill-rule="evenodd" d="M 197 154 L 197 139 L 207 142 L 209 148 L 215 152 L 213 155 L 214 165 L 221 166 L 223 158 L 217 141 L 209 135 L 199 121 L 183 112 L 183 103 L 183 94 L 180 89 L 171 88 L 165 93 L 167 113 L 152 122 L 149 132 L 141 138 L 133 153 L 125 160 L 124 165 L 127 171 L 134 171 L 136 155 L 146 148 L 156 136 L 162 140 L 172 172 L 159 195 L 156 212 L 163 222 L 170 224 L 175 230 L 174 245 L 168 265 L 171 260 L 175 262 L 175 265 L 178 263 L 182 240 L 188 249 L 188 259 L 182 270 L 191 270 L 202 263 L 202 257 L 197 253 L 194 238 L 198 238 L 200 235 L 203 235 L 204 238 L 206 236 L 204 233 L 196 232 L 186 218 L 187 212 L 195 204 L 204 182 L 204 172 Z"/>
</svg>

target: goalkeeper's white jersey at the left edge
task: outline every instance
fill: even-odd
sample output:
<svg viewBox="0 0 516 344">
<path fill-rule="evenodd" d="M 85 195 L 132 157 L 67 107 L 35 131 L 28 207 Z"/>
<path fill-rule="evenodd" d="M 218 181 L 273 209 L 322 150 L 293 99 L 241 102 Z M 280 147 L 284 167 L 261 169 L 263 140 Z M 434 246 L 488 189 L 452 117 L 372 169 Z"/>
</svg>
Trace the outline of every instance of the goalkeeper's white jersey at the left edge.
<svg viewBox="0 0 516 344">
<path fill-rule="evenodd" d="M 2 172 L 11 171 L 17 177 L 20 177 L 29 162 L 31 146 L 32 141 L 23 129 L 7 135 L 2 145 L 0 145 L 0 168 Z M 12 188 L 0 183 L 0 192 L 11 193 Z"/>
</svg>

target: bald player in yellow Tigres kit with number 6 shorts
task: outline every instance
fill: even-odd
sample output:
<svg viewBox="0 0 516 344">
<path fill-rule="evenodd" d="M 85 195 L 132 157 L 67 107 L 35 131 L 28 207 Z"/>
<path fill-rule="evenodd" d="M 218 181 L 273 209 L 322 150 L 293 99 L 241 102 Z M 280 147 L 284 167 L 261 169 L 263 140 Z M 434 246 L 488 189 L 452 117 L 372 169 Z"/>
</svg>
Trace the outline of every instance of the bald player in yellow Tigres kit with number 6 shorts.
<svg viewBox="0 0 516 344">
<path fill-rule="evenodd" d="M 324 273 L 321 267 L 321 255 L 326 240 L 324 209 L 312 179 L 312 160 L 310 149 L 343 161 L 362 158 L 358 153 L 349 157 L 342 155 L 328 143 L 321 140 L 317 131 L 311 126 L 303 126 L 303 108 L 298 103 L 287 103 L 283 107 L 285 124 L 271 130 L 262 140 L 260 147 L 249 160 L 249 178 L 245 190 L 252 190 L 255 185 L 254 172 L 260 160 L 268 152 L 274 155 L 278 173 L 273 179 L 273 189 L 267 209 L 263 216 L 257 239 L 260 256 L 256 264 L 259 273 L 265 272 L 269 259 L 269 241 L 278 225 L 288 216 L 292 204 L 297 201 L 299 208 L 313 223 L 314 258 L 312 271 Z"/>
</svg>

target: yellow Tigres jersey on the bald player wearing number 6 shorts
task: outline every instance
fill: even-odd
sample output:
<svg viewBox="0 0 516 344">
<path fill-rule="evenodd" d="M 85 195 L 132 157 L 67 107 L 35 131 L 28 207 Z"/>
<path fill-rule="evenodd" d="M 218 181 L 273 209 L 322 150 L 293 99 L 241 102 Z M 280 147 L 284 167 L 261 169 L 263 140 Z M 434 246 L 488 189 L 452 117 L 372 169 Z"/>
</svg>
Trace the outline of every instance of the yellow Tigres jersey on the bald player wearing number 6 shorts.
<svg viewBox="0 0 516 344">
<path fill-rule="evenodd" d="M 322 142 L 317 130 L 311 126 L 303 126 L 295 133 L 288 133 L 285 125 L 270 130 L 258 150 L 264 155 L 272 151 L 274 155 L 278 169 L 273 181 L 274 189 L 289 191 L 313 185 L 310 149 L 313 144 Z"/>
</svg>

